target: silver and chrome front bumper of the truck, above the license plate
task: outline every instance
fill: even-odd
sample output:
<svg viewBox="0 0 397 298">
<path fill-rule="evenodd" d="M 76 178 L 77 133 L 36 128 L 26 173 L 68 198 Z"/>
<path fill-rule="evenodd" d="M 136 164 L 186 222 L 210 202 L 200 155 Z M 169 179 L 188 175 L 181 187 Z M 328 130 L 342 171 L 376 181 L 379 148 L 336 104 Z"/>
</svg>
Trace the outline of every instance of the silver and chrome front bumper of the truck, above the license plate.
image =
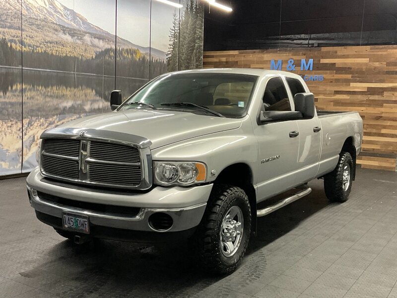
<svg viewBox="0 0 397 298">
<path fill-rule="evenodd" d="M 63 213 L 83 215 L 88 216 L 92 225 L 136 231 L 176 232 L 197 226 L 204 214 L 206 202 L 212 189 L 212 185 L 191 188 L 156 187 L 150 192 L 142 194 L 114 194 L 50 184 L 43 178 L 38 169 L 33 170 L 27 178 L 30 204 L 36 211 L 60 219 L 62 219 Z M 129 216 L 86 210 L 45 200 L 39 197 L 37 191 L 75 201 L 138 207 L 140 211 L 135 216 Z M 171 228 L 157 231 L 148 224 L 148 218 L 156 212 L 171 216 L 173 219 Z"/>
</svg>

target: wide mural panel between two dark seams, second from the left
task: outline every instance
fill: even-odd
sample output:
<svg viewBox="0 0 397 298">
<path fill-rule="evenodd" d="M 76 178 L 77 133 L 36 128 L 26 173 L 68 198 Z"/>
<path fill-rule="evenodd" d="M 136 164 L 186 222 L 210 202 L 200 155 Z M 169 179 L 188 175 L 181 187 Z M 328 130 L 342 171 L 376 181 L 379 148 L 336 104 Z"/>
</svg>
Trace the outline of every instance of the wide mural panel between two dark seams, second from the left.
<svg viewBox="0 0 397 298">
<path fill-rule="evenodd" d="M 45 129 L 110 111 L 116 1 L 22 1 L 25 172 Z"/>
</svg>

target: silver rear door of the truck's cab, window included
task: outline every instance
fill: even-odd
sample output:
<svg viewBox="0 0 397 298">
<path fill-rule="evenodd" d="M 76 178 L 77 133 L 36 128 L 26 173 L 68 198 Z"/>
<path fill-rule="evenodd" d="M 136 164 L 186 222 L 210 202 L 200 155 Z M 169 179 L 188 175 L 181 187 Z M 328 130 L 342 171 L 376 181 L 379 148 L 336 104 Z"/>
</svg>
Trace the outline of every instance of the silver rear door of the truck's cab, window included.
<svg viewBox="0 0 397 298">
<path fill-rule="evenodd" d="M 294 98 L 296 93 L 306 92 L 299 79 L 285 77 L 289 89 Z M 311 119 L 298 119 L 299 149 L 297 157 L 298 171 L 296 183 L 307 182 L 316 177 L 321 149 L 321 125 L 320 120 L 315 115 Z"/>
</svg>

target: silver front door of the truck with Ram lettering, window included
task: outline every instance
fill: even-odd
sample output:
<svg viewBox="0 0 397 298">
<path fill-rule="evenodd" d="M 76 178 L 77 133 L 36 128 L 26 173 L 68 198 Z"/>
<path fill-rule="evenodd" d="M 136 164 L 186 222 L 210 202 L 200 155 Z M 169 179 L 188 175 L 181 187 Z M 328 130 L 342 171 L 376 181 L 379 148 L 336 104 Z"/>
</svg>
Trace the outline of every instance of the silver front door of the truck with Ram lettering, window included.
<svg viewBox="0 0 397 298">
<path fill-rule="evenodd" d="M 263 93 L 263 110 L 291 111 L 291 98 L 280 76 L 267 80 Z M 258 201 L 294 186 L 299 139 L 296 120 L 260 123 L 254 128 L 259 142 Z"/>
</svg>

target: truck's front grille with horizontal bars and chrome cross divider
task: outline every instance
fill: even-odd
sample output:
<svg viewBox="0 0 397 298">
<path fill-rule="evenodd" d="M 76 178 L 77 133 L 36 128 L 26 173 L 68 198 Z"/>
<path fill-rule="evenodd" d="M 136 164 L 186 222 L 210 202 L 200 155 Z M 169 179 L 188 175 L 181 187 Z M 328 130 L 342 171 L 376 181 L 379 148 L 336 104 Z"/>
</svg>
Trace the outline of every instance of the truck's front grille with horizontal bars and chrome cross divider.
<svg viewBox="0 0 397 298">
<path fill-rule="evenodd" d="M 44 139 L 44 176 L 88 185 L 138 187 L 142 181 L 138 148 L 96 140 Z"/>
</svg>

